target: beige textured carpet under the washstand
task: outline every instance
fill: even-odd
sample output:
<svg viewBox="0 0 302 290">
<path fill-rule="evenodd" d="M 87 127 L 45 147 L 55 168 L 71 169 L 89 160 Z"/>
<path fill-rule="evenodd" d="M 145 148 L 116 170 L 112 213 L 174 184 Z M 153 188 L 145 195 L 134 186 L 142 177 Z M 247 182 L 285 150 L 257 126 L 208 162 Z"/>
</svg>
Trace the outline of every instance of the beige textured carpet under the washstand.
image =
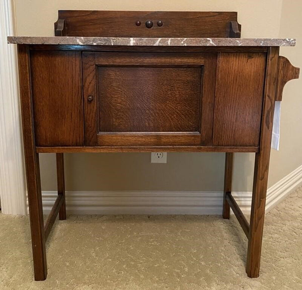
<svg viewBox="0 0 302 290">
<path fill-rule="evenodd" d="M 0 289 L 302 289 L 302 188 L 266 215 L 259 278 L 234 216 L 68 216 L 33 281 L 28 217 L 0 214 Z"/>
</svg>

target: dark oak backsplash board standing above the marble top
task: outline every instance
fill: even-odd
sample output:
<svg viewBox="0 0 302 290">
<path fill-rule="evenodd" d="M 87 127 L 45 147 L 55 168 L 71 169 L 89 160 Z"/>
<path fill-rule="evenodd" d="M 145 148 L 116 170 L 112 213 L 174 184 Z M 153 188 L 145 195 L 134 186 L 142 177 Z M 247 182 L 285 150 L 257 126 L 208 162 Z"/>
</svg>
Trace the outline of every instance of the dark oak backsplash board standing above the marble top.
<svg viewBox="0 0 302 290">
<path fill-rule="evenodd" d="M 237 12 L 59 10 L 58 19 L 64 20 L 65 29 L 58 31 L 62 36 L 229 37 L 230 21 L 237 22 Z M 153 22 L 152 28 L 146 28 L 146 21 Z"/>
</svg>

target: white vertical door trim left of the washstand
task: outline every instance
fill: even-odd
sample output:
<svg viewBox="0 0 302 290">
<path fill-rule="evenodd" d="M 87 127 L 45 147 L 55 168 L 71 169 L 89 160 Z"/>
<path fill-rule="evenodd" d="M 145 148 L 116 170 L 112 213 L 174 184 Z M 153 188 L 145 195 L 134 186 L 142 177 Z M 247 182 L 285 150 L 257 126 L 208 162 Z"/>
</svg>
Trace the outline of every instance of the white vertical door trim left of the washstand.
<svg viewBox="0 0 302 290">
<path fill-rule="evenodd" d="M 26 214 L 26 182 L 21 134 L 16 45 L 11 0 L 0 1 L 0 197 L 3 213 Z"/>
</svg>

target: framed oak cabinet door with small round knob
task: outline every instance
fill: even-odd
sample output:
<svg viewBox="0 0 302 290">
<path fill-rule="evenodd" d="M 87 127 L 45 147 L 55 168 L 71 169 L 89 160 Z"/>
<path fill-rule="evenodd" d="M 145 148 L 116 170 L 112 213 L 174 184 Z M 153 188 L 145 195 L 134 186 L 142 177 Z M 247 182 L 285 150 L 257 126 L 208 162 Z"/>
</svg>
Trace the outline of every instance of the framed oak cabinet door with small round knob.
<svg viewBox="0 0 302 290">
<path fill-rule="evenodd" d="M 212 144 L 215 53 L 83 52 L 86 146 Z"/>
</svg>

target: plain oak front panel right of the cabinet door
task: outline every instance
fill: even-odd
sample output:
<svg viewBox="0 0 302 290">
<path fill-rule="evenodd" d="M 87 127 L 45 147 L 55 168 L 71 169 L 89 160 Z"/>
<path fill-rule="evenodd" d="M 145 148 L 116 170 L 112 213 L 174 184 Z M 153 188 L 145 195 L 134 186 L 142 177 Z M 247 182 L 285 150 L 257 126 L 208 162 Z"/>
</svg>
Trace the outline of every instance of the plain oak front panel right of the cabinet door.
<svg viewBox="0 0 302 290">
<path fill-rule="evenodd" d="M 220 53 L 214 146 L 259 146 L 266 53 Z"/>
</svg>

